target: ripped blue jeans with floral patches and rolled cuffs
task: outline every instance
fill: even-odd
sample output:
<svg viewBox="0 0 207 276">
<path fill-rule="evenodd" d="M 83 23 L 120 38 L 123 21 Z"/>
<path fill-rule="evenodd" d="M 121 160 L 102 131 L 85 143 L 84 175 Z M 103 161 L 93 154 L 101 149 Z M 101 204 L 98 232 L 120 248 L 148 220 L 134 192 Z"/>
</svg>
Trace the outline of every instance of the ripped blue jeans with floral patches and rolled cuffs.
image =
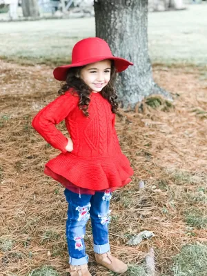
<svg viewBox="0 0 207 276">
<path fill-rule="evenodd" d="M 79 195 L 65 189 L 68 201 L 68 219 L 66 221 L 66 238 L 68 243 L 69 263 L 79 266 L 88 263 L 84 244 L 86 223 L 90 217 L 94 251 L 98 254 L 110 250 L 108 241 L 108 224 L 110 221 L 110 190 L 95 195 Z"/>
</svg>

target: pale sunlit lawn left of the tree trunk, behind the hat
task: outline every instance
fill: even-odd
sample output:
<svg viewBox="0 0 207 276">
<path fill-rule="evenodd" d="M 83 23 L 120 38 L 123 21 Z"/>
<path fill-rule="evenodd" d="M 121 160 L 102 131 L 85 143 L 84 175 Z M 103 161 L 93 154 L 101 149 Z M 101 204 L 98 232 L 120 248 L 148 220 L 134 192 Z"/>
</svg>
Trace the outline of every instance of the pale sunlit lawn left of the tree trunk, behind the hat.
<svg viewBox="0 0 207 276">
<path fill-rule="evenodd" d="M 92 34 L 95 30 L 93 21 L 87 21 L 90 30 L 85 21 L 77 19 L 0 22 L 0 59 L 31 66 L 70 63 L 75 43 L 84 37 L 95 36 Z"/>
</svg>

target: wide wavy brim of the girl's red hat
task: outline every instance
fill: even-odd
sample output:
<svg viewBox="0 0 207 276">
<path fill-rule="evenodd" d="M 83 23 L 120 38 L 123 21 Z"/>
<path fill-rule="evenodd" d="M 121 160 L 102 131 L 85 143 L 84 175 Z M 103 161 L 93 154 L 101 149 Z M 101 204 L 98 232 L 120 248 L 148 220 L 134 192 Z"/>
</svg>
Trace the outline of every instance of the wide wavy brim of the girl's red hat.
<svg viewBox="0 0 207 276">
<path fill-rule="evenodd" d="M 126 68 L 128 68 L 128 66 L 133 65 L 132 62 L 127 61 L 126 59 L 122 59 L 121 57 L 95 57 L 93 59 L 87 59 L 85 61 L 80 61 L 77 63 L 72 63 L 69 65 L 65 65 L 65 66 L 59 66 L 57 68 L 55 68 L 55 70 L 53 71 L 53 75 L 55 77 L 55 79 L 57 79 L 58 81 L 65 81 L 66 77 L 67 77 L 67 73 L 68 73 L 68 69 L 72 68 L 72 67 L 79 67 L 79 66 L 84 66 L 90 63 L 95 63 L 97 61 L 102 61 L 104 59 L 112 59 L 115 61 L 115 67 L 117 68 L 117 72 L 122 72 L 124 70 L 126 70 Z"/>
</svg>

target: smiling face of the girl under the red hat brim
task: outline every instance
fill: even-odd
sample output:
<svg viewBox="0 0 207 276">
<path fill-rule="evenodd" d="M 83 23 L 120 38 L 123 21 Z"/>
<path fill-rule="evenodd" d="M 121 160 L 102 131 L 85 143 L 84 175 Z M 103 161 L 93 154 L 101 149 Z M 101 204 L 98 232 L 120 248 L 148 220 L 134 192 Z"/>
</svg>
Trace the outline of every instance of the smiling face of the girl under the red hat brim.
<svg viewBox="0 0 207 276">
<path fill-rule="evenodd" d="M 86 65 L 80 72 L 80 78 L 92 89 L 100 92 L 110 81 L 111 61 L 105 59 Z"/>
</svg>

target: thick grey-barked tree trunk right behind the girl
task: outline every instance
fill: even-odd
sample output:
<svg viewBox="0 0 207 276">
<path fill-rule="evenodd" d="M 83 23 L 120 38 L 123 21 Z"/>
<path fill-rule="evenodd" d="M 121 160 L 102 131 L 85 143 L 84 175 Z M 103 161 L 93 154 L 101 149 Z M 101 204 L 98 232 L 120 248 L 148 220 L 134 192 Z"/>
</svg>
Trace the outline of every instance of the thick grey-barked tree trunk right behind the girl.
<svg viewBox="0 0 207 276">
<path fill-rule="evenodd" d="M 96 36 L 105 39 L 113 55 L 123 57 L 134 66 L 119 73 L 117 91 L 122 107 L 134 108 L 151 94 L 168 92 L 159 88 L 152 78 L 148 55 L 148 1 L 95 0 Z"/>
</svg>

